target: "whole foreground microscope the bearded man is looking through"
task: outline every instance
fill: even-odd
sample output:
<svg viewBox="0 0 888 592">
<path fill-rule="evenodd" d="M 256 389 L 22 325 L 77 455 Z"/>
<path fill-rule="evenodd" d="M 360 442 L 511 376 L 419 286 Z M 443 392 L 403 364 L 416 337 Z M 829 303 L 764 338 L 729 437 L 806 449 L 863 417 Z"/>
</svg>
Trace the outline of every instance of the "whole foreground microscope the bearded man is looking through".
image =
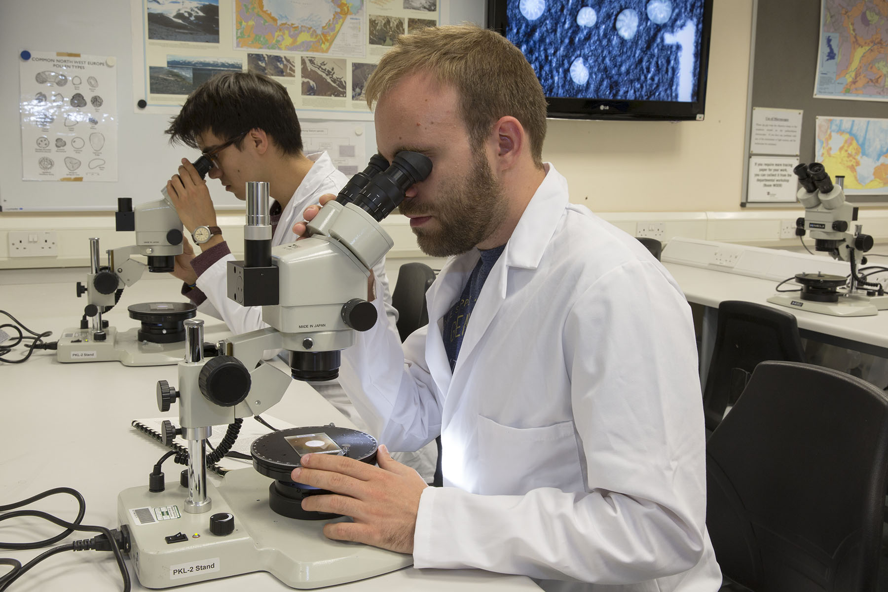
<svg viewBox="0 0 888 592">
<path fill-rule="evenodd" d="M 143 586 L 267 571 L 292 588 L 319 588 L 412 563 L 408 555 L 327 539 L 323 525 L 348 518 L 303 510 L 306 496 L 325 492 L 290 478 L 306 453 L 375 462 L 369 434 L 333 424 L 273 431 L 252 443 L 253 467 L 227 471 L 218 487 L 206 478 L 205 446 L 214 425 L 228 424 L 226 439 L 233 430 L 236 437 L 239 418 L 274 406 L 291 378 L 338 375 L 340 351 L 377 322 L 367 301 L 370 270 L 393 245 L 378 223 L 431 170 L 423 154 L 401 152 L 391 166 L 375 156 L 312 220 L 308 238 L 274 249 L 268 185 L 247 184 L 244 259 L 229 263 L 228 291 L 241 304 L 262 306 L 270 327 L 223 340 L 219 355 L 205 358 L 202 320 L 185 321 L 178 391 L 161 381 L 157 401 L 161 411 L 178 403 L 179 426 L 163 422 L 162 439 L 186 439 L 187 458 L 177 458 L 187 464 L 186 484 L 167 489 L 153 475 L 148 487 L 125 489 L 117 501 Z M 289 372 L 262 359 L 269 349 L 289 351 Z"/>
</svg>

